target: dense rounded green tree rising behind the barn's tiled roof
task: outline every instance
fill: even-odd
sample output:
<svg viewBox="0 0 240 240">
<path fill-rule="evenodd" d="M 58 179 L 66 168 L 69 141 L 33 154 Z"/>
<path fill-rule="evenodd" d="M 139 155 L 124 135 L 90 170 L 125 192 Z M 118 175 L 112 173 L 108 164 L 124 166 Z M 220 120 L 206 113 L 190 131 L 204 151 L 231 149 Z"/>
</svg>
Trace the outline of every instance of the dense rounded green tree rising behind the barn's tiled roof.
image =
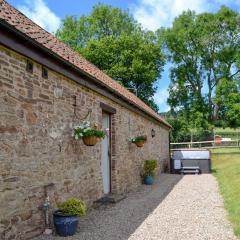
<svg viewBox="0 0 240 240">
<path fill-rule="evenodd" d="M 66 17 L 56 36 L 153 109 L 164 56 L 157 35 L 127 12 L 98 4 L 88 16 Z"/>
</svg>

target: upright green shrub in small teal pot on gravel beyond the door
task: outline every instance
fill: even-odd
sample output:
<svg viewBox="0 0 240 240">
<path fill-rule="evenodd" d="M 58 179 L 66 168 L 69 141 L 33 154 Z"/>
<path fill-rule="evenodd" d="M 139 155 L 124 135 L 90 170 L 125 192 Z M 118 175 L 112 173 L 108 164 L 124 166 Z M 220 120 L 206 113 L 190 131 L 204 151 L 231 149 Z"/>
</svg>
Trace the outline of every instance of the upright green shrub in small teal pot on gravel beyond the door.
<svg viewBox="0 0 240 240">
<path fill-rule="evenodd" d="M 154 181 L 155 171 L 157 169 L 156 160 L 146 160 L 143 167 L 143 182 L 146 185 L 152 185 Z"/>
</svg>

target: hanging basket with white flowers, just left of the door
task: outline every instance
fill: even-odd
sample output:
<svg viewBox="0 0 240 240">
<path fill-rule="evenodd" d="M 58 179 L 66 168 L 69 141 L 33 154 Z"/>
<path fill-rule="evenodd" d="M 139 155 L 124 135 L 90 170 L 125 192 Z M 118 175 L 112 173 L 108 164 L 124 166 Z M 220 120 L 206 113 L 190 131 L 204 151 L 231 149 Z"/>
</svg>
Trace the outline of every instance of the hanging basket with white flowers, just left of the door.
<svg viewBox="0 0 240 240">
<path fill-rule="evenodd" d="M 87 146 L 94 146 L 98 139 L 105 137 L 105 132 L 97 129 L 96 126 L 90 127 L 89 123 L 84 123 L 73 128 L 73 137 L 76 140 L 82 138 L 84 144 Z"/>
</svg>

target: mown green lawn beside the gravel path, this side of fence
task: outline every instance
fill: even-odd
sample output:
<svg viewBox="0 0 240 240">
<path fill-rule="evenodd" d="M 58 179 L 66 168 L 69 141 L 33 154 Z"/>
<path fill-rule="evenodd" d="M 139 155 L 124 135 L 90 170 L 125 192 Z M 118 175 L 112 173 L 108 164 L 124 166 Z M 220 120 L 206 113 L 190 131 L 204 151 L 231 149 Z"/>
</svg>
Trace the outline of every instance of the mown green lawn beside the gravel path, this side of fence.
<svg viewBox="0 0 240 240">
<path fill-rule="evenodd" d="M 216 176 L 235 234 L 240 238 L 240 150 L 212 150 Z"/>
</svg>

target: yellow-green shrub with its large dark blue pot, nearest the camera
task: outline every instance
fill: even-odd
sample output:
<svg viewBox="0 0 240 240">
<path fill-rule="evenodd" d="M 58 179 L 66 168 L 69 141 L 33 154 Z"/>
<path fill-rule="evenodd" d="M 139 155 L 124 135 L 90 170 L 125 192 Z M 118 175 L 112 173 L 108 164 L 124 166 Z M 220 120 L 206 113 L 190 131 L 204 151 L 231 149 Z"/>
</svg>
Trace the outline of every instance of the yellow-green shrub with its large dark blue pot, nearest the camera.
<svg viewBox="0 0 240 240">
<path fill-rule="evenodd" d="M 72 236 L 77 231 L 79 216 L 86 214 L 85 203 L 77 198 L 70 198 L 57 204 L 58 210 L 53 213 L 56 233 L 59 236 Z"/>
</svg>

